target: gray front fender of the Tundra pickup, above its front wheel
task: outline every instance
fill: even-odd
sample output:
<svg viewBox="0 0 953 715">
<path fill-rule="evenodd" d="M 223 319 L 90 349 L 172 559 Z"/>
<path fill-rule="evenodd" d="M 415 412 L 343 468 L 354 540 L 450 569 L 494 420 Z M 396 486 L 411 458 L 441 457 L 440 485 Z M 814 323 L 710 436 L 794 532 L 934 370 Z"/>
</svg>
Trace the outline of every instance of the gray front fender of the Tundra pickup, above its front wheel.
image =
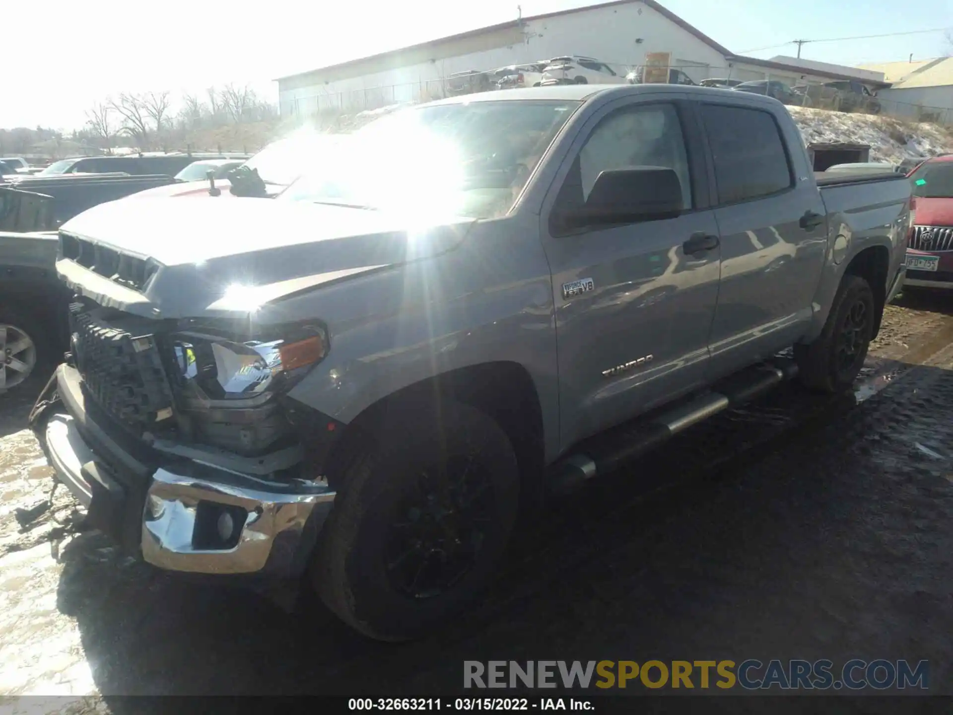
<svg viewBox="0 0 953 715">
<path fill-rule="evenodd" d="M 487 221 L 454 251 L 284 301 L 282 319 L 320 318 L 330 351 L 289 393 L 349 423 L 421 380 L 514 362 L 537 389 L 546 454 L 558 450 L 553 291 L 537 221 Z"/>
</svg>

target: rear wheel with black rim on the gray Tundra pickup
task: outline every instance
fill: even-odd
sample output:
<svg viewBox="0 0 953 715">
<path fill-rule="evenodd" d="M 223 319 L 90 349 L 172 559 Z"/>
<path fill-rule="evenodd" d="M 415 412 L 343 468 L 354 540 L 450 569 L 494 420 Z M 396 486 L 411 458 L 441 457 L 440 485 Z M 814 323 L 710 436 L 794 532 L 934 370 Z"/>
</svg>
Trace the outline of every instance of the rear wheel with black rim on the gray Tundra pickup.
<svg viewBox="0 0 953 715">
<path fill-rule="evenodd" d="M 867 281 L 843 276 L 821 336 L 794 346 L 801 384 L 825 393 L 850 389 L 867 357 L 874 312 L 874 294 Z"/>
</svg>

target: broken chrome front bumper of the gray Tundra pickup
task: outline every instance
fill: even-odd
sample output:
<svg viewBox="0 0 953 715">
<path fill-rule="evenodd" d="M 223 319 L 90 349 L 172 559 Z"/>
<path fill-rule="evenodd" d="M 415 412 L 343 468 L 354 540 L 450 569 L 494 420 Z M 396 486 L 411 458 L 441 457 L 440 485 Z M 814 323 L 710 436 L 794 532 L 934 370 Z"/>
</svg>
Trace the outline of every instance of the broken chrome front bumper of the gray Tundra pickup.
<svg viewBox="0 0 953 715">
<path fill-rule="evenodd" d="M 127 547 L 138 546 L 145 561 L 172 571 L 277 578 L 303 572 L 335 500 L 327 483 L 262 480 L 186 459 L 152 474 L 122 469 L 117 465 L 133 458 L 89 422 L 69 371 L 57 370 L 30 426 L 93 526 L 114 530 L 120 543 L 125 533 Z"/>
</svg>

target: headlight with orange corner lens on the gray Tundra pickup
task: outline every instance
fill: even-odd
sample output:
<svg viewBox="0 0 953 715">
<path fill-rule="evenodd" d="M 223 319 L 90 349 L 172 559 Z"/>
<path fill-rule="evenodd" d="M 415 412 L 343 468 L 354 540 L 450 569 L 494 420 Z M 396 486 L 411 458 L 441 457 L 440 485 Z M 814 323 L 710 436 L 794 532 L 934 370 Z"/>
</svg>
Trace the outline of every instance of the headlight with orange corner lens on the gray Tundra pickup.
<svg viewBox="0 0 953 715">
<path fill-rule="evenodd" d="M 292 339 L 237 341 L 204 333 L 172 337 L 186 401 L 249 407 L 285 392 L 327 355 L 327 336 L 312 327 Z"/>
</svg>

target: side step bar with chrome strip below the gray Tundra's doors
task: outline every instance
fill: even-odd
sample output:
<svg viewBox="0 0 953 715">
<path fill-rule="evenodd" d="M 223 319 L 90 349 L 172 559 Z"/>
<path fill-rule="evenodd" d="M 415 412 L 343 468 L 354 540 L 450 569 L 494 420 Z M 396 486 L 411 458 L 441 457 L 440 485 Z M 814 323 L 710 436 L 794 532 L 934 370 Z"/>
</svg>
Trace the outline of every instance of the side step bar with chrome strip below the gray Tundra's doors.
<svg viewBox="0 0 953 715">
<path fill-rule="evenodd" d="M 611 472 L 625 461 L 655 449 L 666 439 L 729 407 L 756 398 L 770 388 L 794 378 L 794 360 L 776 359 L 721 380 L 698 398 L 670 407 L 654 417 L 643 417 L 615 427 L 579 445 L 578 451 L 559 460 L 550 484 L 558 493 L 578 489 L 587 480 Z"/>
</svg>

